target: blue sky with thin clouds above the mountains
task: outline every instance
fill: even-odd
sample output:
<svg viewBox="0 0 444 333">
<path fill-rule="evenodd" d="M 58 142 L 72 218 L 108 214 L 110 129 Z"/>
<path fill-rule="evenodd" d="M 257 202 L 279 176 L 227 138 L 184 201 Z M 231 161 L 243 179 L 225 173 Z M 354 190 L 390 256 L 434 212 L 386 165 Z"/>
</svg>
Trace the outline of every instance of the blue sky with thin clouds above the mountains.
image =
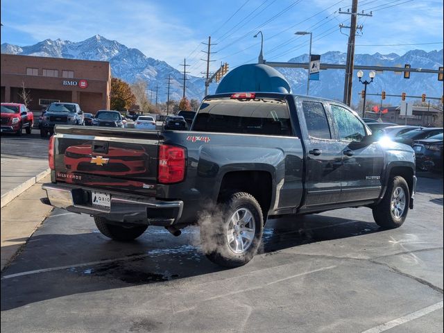
<svg viewBox="0 0 444 333">
<path fill-rule="evenodd" d="M 309 37 L 296 36 L 296 31 L 313 32 L 313 53 L 345 51 L 348 37 L 338 25 L 349 24 L 350 15 L 338 10 L 350 6 L 351 0 L 4 0 L 1 43 L 24 46 L 46 38 L 78 42 L 99 34 L 178 69 L 186 57 L 196 75 L 205 69 L 200 42 L 210 34 L 217 43 L 212 48 L 217 52 L 212 55 L 214 68 L 221 61 L 230 68 L 255 61 L 260 38 L 253 35 L 259 30 L 269 61 L 308 53 Z M 359 17 L 364 28 L 357 53 L 443 48 L 442 0 L 359 0 L 361 10 L 373 10 L 373 17 Z M 425 44 L 437 42 L 441 44 Z"/>
</svg>

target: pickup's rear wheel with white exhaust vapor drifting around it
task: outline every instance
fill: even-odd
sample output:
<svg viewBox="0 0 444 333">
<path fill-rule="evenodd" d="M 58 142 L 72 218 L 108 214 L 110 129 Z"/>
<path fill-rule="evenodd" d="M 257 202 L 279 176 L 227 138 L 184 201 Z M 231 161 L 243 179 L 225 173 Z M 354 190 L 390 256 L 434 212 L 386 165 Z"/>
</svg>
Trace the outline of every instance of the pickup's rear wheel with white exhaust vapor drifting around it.
<svg viewBox="0 0 444 333">
<path fill-rule="evenodd" d="M 249 217 L 248 212 L 251 217 Z M 239 221 L 244 221 L 237 226 L 237 230 L 234 225 L 233 228 L 231 227 L 232 218 L 234 221 L 236 220 L 234 218 L 234 214 L 236 213 L 237 224 L 239 224 Z M 241 219 L 239 219 L 240 216 Z M 244 220 L 244 218 L 246 218 L 246 220 Z M 245 223 L 245 225 L 242 223 Z M 242 229 L 244 226 L 245 229 Z M 228 233 L 229 228 L 233 230 L 230 236 Z M 237 192 L 230 195 L 216 207 L 210 220 L 200 221 L 200 242 L 207 258 L 215 264 L 225 267 L 239 267 L 250 262 L 255 256 L 262 239 L 263 229 L 264 216 L 262 215 L 262 209 L 259 203 L 257 203 L 257 200 L 251 194 Z M 248 232 L 244 231 L 244 236 L 249 233 L 248 237 L 251 239 L 245 238 L 245 250 L 243 243 L 244 236 L 240 235 L 243 234 L 241 230 L 250 230 Z M 231 242 L 229 242 L 228 237 L 232 237 Z M 237 253 L 235 251 L 237 250 L 236 245 L 240 244 L 237 243 L 239 239 L 242 245 L 239 249 L 241 252 Z M 236 249 L 233 249 L 232 246 L 236 246 Z"/>
</svg>

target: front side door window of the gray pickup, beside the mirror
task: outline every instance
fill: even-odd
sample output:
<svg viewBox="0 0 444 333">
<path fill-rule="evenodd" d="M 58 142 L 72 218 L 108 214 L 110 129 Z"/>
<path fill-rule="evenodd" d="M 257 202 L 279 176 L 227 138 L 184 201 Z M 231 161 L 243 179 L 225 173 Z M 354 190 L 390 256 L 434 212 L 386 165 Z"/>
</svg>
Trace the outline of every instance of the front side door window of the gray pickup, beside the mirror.
<svg viewBox="0 0 444 333">
<path fill-rule="evenodd" d="M 343 141 L 361 141 L 366 136 L 364 125 L 349 110 L 338 105 L 332 105 L 332 114 L 338 126 L 339 139 Z"/>
</svg>

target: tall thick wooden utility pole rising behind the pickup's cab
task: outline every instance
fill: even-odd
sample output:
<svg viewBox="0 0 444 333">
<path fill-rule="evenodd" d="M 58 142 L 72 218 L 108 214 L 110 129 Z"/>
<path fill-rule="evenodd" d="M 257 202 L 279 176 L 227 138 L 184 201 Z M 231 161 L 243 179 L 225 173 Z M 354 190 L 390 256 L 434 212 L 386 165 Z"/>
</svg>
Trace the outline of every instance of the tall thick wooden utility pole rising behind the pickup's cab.
<svg viewBox="0 0 444 333">
<path fill-rule="evenodd" d="M 348 35 L 347 44 L 347 61 L 345 63 L 345 80 L 344 80 L 344 95 L 343 103 L 350 106 L 352 103 L 352 85 L 353 85 L 353 66 L 355 64 L 355 39 L 357 29 L 362 31 L 362 26 L 357 26 L 357 17 L 360 16 L 373 16 L 370 14 L 364 14 L 364 12 L 358 12 L 358 0 L 352 0 L 352 12 L 350 10 L 343 12 L 339 8 L 339 14 L 351 15 L 350 26 L 344 26 L 340 24 L 340 28 L 349 28 L 350 35 Z"/>
</svg>

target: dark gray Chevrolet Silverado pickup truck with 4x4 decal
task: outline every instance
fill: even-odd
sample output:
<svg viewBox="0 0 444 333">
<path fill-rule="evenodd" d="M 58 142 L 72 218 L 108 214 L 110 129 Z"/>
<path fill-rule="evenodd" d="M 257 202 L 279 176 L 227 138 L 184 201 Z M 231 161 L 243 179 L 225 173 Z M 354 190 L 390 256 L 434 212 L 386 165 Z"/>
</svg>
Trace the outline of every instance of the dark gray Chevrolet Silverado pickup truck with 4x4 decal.
<svg viewBox="0 0 444 333">
<path fill-rule="evenodd" d="M 411 147 L 375 137 L 336 101 L 283 93 L 207 96 L 189 131 L 58 126 L 44 203 L 94 216 L 119 241 L 149 225 L 200 225 L 223 266 L 255 255 L 271 216 L 366 206 L 397 228 L 413 208 Z"/>
</svg>

